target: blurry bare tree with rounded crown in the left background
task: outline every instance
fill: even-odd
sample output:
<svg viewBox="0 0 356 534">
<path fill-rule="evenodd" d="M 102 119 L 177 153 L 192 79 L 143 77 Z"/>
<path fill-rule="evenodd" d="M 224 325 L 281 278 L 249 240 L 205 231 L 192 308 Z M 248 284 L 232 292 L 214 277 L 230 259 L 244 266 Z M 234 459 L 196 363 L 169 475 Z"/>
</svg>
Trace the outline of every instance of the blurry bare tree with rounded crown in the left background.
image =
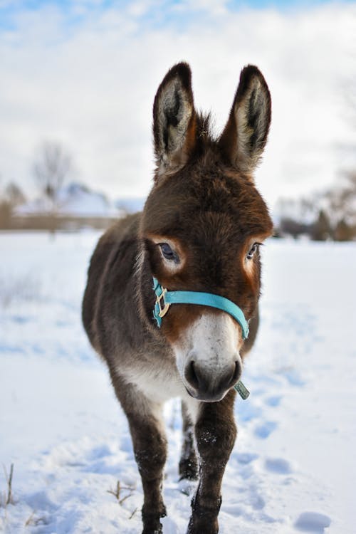
<svg viewBox="0 0 356 534">
<path fill-rule="evenodd" d="M 71 169 L 72 157 L 61 143 L 55 141 L 43 143 L 33 164 L 33 176 L 41 193 L 49 201 L 48 215 L 51 231 L 56 229 L 58 193 Z"/>
</svg>

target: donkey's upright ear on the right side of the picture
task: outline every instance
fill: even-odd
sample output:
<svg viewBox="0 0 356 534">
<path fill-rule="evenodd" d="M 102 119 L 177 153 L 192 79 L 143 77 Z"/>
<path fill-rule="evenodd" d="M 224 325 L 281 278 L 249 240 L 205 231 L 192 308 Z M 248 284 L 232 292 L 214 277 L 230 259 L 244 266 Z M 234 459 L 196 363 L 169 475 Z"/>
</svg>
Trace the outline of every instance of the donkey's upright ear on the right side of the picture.
<svg viewBox="0 0 356 534">
<path fill-rule="evenodd" d="M 219 145 L 229 162 L 251 174 L 266 145 L 271 123 L 271 95 L 257 67 L 248 65 L 241 71 L 229 120 Z"/>
</svg>

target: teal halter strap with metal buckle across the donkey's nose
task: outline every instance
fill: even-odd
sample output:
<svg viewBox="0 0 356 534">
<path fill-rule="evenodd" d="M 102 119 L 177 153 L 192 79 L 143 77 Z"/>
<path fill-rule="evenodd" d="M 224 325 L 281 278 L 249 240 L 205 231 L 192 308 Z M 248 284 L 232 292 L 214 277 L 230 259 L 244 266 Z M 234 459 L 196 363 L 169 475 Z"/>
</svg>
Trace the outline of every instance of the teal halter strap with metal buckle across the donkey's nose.
<svg viewBox="0 0 356 534">
<path fill-rule="evenodd" d="M 153 278 L 153 289 L 156 293 L 153 316 L 159 328 L 162 324 L 162 317 L 166 315 L 171 304 L 199 304 L 229 313 L 241 326 L 242 338 L 246 340 L 248 337 L 248 323 L 244 312 L 228 298 L 213 293 L 199 293 L 198 291 L 168 291 L 166 288 L 162 288 L 157 278 Z"/>
</svg>

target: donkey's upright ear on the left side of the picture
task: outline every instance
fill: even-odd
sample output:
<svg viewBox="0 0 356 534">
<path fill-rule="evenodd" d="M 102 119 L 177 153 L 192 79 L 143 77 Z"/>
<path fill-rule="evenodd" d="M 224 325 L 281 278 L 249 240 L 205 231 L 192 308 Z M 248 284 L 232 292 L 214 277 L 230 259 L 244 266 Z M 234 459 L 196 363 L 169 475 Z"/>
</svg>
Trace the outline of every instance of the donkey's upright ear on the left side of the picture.
<svg viewBox="0 0 356 534">
<path fill-rule="evenodd" d="M 159 174 L 183 167 L 195 145 L 192 73 L 178 63 L 164 76 L 153 105 L 153 135 Z"/>
</svg>

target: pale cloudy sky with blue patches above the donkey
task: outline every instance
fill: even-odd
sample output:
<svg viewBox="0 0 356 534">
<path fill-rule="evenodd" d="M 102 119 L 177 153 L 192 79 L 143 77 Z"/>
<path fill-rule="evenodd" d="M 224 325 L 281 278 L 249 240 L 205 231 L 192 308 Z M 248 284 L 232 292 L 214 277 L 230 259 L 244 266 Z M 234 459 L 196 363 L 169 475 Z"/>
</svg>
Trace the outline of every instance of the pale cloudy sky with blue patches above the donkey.
<svg viewBox="0 0 356 534">
<path fill-rule="evenodd" d="M 182 60 L 218 133 L 241 68 L 263 72 L 273 114 L 256 182 L 271 206 L 356 164 L 355 1 L 0 0 L 0 189 L 35 195 L 33 161 L 54 140 L 71 180 L 145 197 L 153 99 Z"/>
</svg>

